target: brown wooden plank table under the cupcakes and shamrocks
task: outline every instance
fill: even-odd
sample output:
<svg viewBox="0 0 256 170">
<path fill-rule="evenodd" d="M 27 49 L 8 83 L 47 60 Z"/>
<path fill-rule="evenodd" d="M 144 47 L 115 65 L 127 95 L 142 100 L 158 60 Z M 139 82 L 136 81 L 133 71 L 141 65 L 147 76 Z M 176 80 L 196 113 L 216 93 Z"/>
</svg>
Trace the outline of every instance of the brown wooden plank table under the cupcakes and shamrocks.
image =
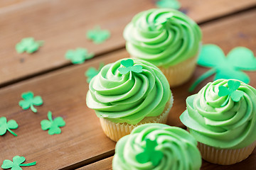
<svg viewBox="0 0 256 170">
<path fill-rule="evenodd" d="M 191 16 L 203 30 L 203 43 L 214 43 L 229 52 L 245 46 L 256 54 L 256 0 L 180 0 L 181 10 Z M 94 111 L 87 108 L 88 84 L 85 71 L 123 57 L 122 31 L 134 14 L 155 8 L 154 0 L 1 0 L 0 1 L 0 117 L 17 121 L 15 132 L 0 137 L 0 163 L 15 155 L 26 157 L 36 166 L 23 169 L 111 169 L 115 142 L 100 128 Z M 87 30 L 100 25 L 110 30 L 111 38 L 101 45 L 86 40 Z M 15 45 L 22 38 L 44 40 L 45 45 L 33 55 L 18 55 Z M 73 65 L 65 52 L 86 47 L 95 52 L 92 60 Z M 188 86 L 206 68 L 197 67 L 193 78 L 183 86 L 171 89 L 174 107 L 168 124 L 184 128 L 178 116 L 186 109 L 191 95 Z M 256 87 L 256 73 L 248 72 L 250 84 Z M 206 79 L 195 93 L 203 87 Z M 18 106 L 21 94 L 33 91 L 43 98 L 38 113 Z M 40 122 L 48 111 L 66 122 L 60 135 L 48 135 Z M 203 162 L 201 169 L 256 169 L 256 150 L 248 159 L 233 166 Z"/>
</svg>

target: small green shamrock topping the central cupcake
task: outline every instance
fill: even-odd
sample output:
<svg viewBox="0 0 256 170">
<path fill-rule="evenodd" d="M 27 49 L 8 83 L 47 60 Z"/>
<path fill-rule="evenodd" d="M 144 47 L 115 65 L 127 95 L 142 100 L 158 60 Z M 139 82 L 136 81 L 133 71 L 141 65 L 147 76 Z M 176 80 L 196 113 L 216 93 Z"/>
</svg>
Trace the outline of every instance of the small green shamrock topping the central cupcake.
<svg viewBox="0 0 256 170">
<path fill-rule="evenodd" d="M 118 71 L 120 74 L 127 74 L 128 72 L 142 72 L 142 66 L 141 65 L 134 65 L 134 61 L 132 59 L 128 60 L 122 60 L 121 64 L 124 67 L 119 67 Z"/>
</svg>

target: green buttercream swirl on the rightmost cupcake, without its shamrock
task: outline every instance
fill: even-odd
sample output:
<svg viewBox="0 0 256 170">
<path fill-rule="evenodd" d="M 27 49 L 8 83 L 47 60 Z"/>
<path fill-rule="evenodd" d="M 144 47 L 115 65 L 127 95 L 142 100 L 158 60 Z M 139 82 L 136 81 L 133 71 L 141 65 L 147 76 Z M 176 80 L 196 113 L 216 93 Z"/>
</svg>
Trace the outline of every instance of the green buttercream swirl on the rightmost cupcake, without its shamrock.
<svg viewBox="0 0 256 170">
<path fill-rule="evenodd" d="M 243 96 L 238 102 L 218 96 L 219 86 L 228 87 L 225 79 L 208 83 L 186 99 L 187 110 L 180 119 L 198 142 L 220 149 L 240 149 L 256 140 L 256 90 L 240 83 L 238 91 Z"/>
</svg>

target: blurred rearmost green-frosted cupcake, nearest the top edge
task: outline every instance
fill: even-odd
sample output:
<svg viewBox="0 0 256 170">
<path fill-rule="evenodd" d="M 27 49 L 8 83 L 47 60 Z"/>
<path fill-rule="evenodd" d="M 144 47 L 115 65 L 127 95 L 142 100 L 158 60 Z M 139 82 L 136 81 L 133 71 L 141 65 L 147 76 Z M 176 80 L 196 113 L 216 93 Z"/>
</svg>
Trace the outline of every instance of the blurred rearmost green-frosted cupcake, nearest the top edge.
<svg viewBox="0 0 256 170">
<path fill-rule="evenodd" d="M 171 8 L 138 13 L 124 29 L 129 54 L 159 67 L 170 86 L 183 84 L 193 74 L 201 38 L 199 26 Z"/>
</svg>

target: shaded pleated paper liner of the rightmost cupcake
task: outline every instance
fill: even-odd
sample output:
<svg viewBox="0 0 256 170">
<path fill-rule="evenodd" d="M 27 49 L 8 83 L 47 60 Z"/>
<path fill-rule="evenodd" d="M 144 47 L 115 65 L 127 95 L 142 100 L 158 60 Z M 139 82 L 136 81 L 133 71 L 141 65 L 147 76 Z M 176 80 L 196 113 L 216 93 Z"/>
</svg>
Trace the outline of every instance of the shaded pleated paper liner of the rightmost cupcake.
<svg viewBox="0 0 256 170">
<path fill-rule="evenodd" d="M 201 152 L 201 156 L 207 162 L 213 164 L 230 165 L 241 162 L 249 157 L 255 149 L 256 141 L 251 145 L 241 149 L 216 149 L 198 142 L 198 149 Z"/>
</svg>

